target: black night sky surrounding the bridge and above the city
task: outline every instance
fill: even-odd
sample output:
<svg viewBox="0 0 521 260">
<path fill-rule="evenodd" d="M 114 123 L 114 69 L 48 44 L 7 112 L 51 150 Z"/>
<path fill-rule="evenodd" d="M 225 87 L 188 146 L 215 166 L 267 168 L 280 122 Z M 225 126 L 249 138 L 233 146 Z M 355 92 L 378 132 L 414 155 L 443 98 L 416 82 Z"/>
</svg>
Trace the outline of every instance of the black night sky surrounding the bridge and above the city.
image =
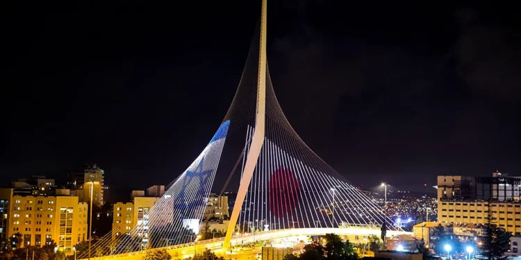
<svg viewBox="0 0 521 260">
<path fill-rule="evenodd" d="M 345 2 L 268 2 L 274 89 L 317 155 L 367 188 L 521 175 L 515 8 Z M 260 1 L 169 4 L 2 8 L 2 186 L 96 163 L 109 187 L 144 189 L 190 165 L 233 99 Z"/>
</svg>

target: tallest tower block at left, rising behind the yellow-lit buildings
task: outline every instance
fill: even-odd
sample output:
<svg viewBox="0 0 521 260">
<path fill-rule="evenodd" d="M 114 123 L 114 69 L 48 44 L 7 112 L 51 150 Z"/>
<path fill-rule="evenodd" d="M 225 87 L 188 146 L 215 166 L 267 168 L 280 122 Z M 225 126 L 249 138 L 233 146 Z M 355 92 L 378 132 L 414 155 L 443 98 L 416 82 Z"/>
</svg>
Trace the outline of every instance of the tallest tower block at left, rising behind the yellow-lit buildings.
<svg viewBox="0 0 521 260">
<path fill-rule="evenodd" d="M 77 196 L 81 202 L 90 202 L 90 189 L 92 186 L 92 203 L 101 207 L 104 205 L 105 172 L 96 164 L 83 167 L 82 171 L 76 171 L 67 175 L 67 187 L 71 193 Z"/>
</svg>

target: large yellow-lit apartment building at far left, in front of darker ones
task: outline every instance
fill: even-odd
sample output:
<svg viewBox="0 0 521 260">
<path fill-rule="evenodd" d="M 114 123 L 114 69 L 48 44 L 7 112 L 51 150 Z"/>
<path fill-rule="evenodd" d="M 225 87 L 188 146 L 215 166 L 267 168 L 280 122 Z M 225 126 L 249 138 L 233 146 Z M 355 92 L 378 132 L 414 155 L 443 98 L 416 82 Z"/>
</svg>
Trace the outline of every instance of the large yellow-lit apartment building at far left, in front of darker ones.
<svg viewBox="0 0 521 260">
<path fill-rule="evenodd" d="M 22 235 L 22 245 L 49 245 L 72 253 L 72 247 L 88 239 L 87 203 L 72 196 L 11 196 L 8 237 Z"/>
</svg>

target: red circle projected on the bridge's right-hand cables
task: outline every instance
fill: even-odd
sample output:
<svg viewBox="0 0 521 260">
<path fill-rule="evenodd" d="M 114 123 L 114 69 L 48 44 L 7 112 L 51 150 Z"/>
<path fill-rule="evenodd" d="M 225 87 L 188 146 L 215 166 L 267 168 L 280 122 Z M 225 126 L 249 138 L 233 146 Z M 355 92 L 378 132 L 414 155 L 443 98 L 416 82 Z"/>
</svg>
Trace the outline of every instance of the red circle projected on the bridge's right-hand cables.
<svg viewBox="0 0 521 260">
<path fill-rule="evenodd" d="M 300 193 L 300 183 L 295 174 L 289 169 L 279 168 L 270 177 L 268 187 L 268 205 L 272 214 L 279 218 L 292 216 Z"/>
</svg>

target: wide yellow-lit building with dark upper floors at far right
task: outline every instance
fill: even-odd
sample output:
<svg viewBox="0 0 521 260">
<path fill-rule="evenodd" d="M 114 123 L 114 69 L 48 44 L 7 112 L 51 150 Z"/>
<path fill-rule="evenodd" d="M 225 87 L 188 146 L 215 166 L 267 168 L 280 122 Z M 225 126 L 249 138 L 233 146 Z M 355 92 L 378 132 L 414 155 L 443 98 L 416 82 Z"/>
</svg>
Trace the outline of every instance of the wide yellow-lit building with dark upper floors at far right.
<svg viewBox="0 0 521 260">
<path fill-rule="evenodd" d="M 521 235 L 521 177 L 493 173 L 492 177 L 438 176 L 438 221 L 442 223 L 492 221 Z"/>
</svg>

